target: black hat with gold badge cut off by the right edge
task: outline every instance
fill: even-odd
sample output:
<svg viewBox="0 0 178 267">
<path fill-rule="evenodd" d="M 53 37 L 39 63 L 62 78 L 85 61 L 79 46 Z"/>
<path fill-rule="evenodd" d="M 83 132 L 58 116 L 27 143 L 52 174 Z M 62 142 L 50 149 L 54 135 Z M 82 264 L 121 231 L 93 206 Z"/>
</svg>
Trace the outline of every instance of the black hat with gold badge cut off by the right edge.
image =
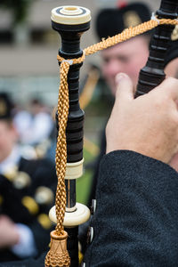
<svg viewBox="0 0 178 267">
<path fill-rule="evenodd" d="M 171 42 L 166 52 L 165 66 L 174 59 L 178 58 L 178 25 L 174 27 Z"/>
</svg>

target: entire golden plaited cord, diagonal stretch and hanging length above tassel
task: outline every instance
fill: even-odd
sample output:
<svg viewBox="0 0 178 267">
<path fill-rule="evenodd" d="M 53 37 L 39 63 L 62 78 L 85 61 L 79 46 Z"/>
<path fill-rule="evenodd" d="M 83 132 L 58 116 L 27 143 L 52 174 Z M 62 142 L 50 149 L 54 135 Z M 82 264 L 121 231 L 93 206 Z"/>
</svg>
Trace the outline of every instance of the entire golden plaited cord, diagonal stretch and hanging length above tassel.
<svg viewBox="0 0 178 267">
<path fill-rule="evenodd" d="M 58 101 L 58 116 L 59 116 L 59 134 L 56 148 L 56 172 L 58 175 L 58 187 L 56 192 L 56 217 L 57 217 L 57 225 L 56 231 L 59 235 L 63 232 L 63 220 L 65 214 L 65 206 L 66 206 L 66 190 L 65 190 L 65 171 L 66 171 L 66 163 L 67 163 L 67 146 L 66 146 L 66 125 L 68 121 L 68 113 L 69 113 L 69 92 L 68 92 L 68 72 L 69 65 L 78 64 L 85 60 L 85 55 L 90 55 L 106 49 L 112 45 L 122 43 L 131 37 L 138 36 L 152 28 L 157 27 L 158 25 L 170 24 L 177 25 L 178 20 L 169 20 L 169 19 L 161 19 L 157 18 L 154 20 L 149 20 L 144 22 L 134 28 L 126 28 L 121 34 L 116 36 L 109 37 L 105 40 L 102 40 L 98 44 L 93 44 L 87 48 L 85 48 L 82 57 L 78 59 L 72 59 L 66 61 L 61 58 L 61 56 L 57 56 L 58 61 L 61 61 L 61 85 L 59 92 L 59 101 Z"/>
</svg>

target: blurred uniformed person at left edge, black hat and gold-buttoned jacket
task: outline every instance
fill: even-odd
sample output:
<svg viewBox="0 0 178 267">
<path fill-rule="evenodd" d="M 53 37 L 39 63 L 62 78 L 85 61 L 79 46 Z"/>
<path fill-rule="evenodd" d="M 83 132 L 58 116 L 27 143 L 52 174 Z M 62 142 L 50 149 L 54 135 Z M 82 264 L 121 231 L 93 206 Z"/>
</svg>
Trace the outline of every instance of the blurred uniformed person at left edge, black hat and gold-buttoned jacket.
<svg viewBox="0 0 178 267">
<path fill-rule="evenodd" d="M 0 93 L 0 212 L 16 224 L 20 236 L 18 244 L 0 248 L 0 262 L 40 255 L 53 230 L 48 213 L 57 184 L 55 167 L 47 159 L 23 158 L 17 136 L 11 101 Z"/>
</svg>

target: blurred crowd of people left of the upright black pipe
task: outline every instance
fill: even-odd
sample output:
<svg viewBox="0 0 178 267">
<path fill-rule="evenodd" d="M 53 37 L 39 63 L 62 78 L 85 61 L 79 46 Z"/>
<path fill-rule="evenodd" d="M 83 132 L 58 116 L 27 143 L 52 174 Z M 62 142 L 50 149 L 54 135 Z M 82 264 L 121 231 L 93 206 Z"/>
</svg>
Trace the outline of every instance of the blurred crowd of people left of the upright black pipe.
<svg viewBox="0 0 178 267">
<path fill-rule="evenodd" d="M 40 255 L 48 247 L 57 184 L 50 113 L 40 100 L 20 109 L 0 93 L 0 262 Z"/>
</svg>

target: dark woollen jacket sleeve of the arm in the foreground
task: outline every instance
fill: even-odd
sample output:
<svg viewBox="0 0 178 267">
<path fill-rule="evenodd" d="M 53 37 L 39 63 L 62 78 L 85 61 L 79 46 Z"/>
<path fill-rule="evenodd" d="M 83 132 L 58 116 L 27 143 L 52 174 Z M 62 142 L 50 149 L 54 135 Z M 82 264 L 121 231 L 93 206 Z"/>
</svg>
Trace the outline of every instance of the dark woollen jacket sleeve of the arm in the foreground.
<svg viewBox="0 0 178 267">
<path fill-rule="evenodd" d="M 177 266 L 178 174 L 134 151 L 101 160 L 88 266 Z"/>
</svg>

